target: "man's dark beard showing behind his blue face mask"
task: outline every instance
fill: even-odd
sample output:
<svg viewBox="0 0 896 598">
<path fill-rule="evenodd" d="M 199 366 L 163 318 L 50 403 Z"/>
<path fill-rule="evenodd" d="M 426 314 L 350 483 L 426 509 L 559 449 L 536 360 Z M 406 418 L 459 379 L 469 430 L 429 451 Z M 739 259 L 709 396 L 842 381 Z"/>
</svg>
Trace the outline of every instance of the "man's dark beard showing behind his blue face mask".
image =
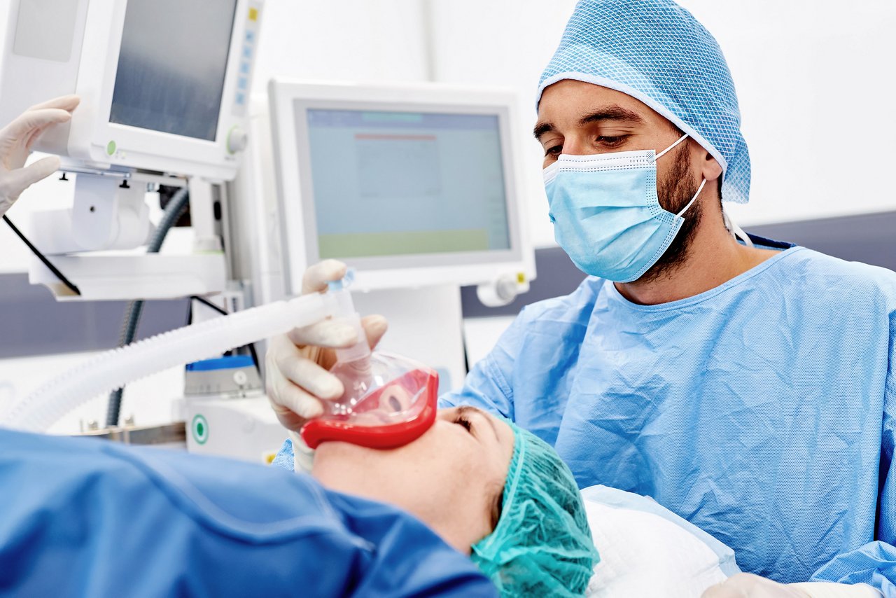
<svg viewBox="0 0 896 598">
<path fill-rule="evenodd" d="M 675 153 L 675 162 L 662 184 L 657 186 L 657 198 L 659 206 L 667 212 L 674 214 L 681 212 L 697 193 L 699 185 L 694 183 L 691 176 L 690 152 L 686 143 L 678 148 Z M 638 282 L 653 282 L 675 272 L 687 259 L 688 250 L 694 241 L 697 226 L 702 219 L 703 211 L 701 202 L 694 204 L 682 214 L 685 219 L 676 237 L 672 239 L 666 253 L 659 257 L 656 264 L 643 273 Z"/>
</svg>

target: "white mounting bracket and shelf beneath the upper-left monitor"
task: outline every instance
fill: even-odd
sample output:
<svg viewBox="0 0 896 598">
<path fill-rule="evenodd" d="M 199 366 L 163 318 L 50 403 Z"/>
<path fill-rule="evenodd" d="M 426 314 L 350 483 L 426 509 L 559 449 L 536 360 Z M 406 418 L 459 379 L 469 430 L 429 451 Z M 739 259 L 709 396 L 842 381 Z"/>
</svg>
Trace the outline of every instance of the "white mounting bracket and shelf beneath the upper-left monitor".
<svg viewBox="0 0 896 598">
<path fill-rule="evenodd" d="M 226 264 L 214 230 L 211 183 L 136 170 L 65 170 L 76 175 L 73 207 L 35 212 L 29 237 L 81 295 L 36 257 L 30 282 L 46 285 L 60 300 L 167 299 L 224 290 Z M 190 187 L 195 233 L 190 255 L 129 251 L 153 233 L 145 195 L 156 184 Z"/>
</svg>

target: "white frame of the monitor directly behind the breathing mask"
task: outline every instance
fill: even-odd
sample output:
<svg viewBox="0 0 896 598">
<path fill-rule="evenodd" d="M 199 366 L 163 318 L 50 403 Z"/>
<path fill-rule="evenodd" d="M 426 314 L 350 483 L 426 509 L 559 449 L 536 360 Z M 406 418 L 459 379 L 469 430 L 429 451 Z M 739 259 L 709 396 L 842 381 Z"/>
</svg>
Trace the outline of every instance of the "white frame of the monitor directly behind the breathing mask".
<svg viewBox="0 0 896 598">
<path fill-rule="evenodd" d="M 359 288 L 373 290 L 431 284 L 477 284 L 492 282 L 506 273 L 534 275 L 534 258 L 531 257 L 523 224 L 521 185 L 516 164 L 518 152 L 513 130 L 516 95 L 513 91 L 437 84 L 387 86 L 275 79 L 269 86 L 269 100 L 277 169 L 280 236 L 289 293 L 301 291 L 306 267 L 321 260 L 307 134 L 309 109 L 475 114 L 498 118 L 504 164 L 504 209 L 510 247 L 486 251 L 339 258 L 356 269 Z M 289 168 L 287 165 L 290 165 Z M 287 197 L 298 197 L 300 201 L 286 201 Z M 312 198 L 311 201 L 308 198 Z M 296 231 L 300 234 L 297 235 Z"/>
</svg>

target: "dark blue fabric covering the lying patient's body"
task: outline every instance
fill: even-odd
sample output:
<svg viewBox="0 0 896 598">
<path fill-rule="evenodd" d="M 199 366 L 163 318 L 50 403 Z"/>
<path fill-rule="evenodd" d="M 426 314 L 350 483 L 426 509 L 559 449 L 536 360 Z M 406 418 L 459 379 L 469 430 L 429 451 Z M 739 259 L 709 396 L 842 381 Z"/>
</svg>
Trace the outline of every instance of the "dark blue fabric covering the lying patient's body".
<svg viewBox="0 0 896 598">
<path fill-rule="evenodd" d="M 496 591 L 414 517 L 305 475 L 0 429 L 0 594 Z"/>
</svg>

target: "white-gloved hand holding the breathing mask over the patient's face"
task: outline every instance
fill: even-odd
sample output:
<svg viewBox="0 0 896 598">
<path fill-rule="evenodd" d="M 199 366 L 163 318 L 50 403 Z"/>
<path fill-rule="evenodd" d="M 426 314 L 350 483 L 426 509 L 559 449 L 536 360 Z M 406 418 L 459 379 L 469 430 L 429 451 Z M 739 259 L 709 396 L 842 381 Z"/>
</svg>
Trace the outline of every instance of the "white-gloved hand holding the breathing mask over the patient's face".
<svg viewBox="0 0 896 598">
<path fill-rule="evenodd" d="M 340 280 L 345 272 L 345 264 L 336 260 L 314 264 L 302 278 L 302 294 L 323 292 L 327 282 Z M 366 316 L 361 325 L 370 348 L 375 348 L 386 332 L 386 319 Z M 333 350 L 350 347 L 355 342 L 358 342 L 355 329 L 334 319 L 295 328 L 271 340 L 265 357 L 266 389 L 281 424 L 297 431 L 307 420 L 323 414 L 322 401 L 342 395 L 342 383 L 327 370 L 336 362 Z"/>
</svg>

